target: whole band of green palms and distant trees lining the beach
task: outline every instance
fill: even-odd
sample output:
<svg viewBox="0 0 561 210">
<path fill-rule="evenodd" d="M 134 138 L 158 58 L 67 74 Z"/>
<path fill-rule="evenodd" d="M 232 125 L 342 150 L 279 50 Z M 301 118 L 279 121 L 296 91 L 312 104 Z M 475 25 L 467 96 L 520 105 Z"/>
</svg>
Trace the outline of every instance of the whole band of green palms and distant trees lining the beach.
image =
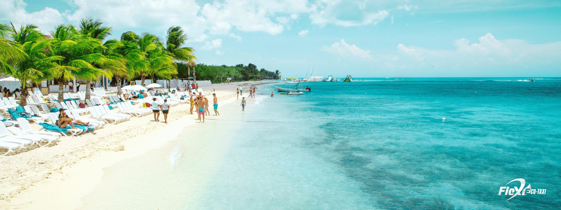
<svg viewBox="0 0 561 210">
<path fill-rule="evenodd" d="M 145 79 L 169 80 L 192 77 L 213 83 L 278 79 L 280 72 L 257 69 L 255 64 L 214 66 L 195 64 L 195 50 L 183 47 L 187 41 L 185 31 L 178 26 L 169 27 L 165 41 L 144 32 L 137 35 L 127 31 L 121 39 L 107 39 L 112 28 L 100 20 L 84 18 L 73 26 L 56 26 L 50 35 L 43 34 L 35 25 L 16 28 L 12 24 L 0 24 L 0 73 L 20 81 L 40 83 L 55 80 L 59 85 L 58 100 L 63 99 L 63 87 L 67 81 L 81 78 L 86 81 L 86 99 L 90 98 L 90 81 L 101 76 L 121 81 Z M 190 65 L 187 65 L 190 64 Z M 169 85 L 169 84 L 168 84 Z M 25 106 L 27 82 L 21 82 L 20 105 Z M 120 88 L 119 92 L 120 94 Z"/>
</svg>

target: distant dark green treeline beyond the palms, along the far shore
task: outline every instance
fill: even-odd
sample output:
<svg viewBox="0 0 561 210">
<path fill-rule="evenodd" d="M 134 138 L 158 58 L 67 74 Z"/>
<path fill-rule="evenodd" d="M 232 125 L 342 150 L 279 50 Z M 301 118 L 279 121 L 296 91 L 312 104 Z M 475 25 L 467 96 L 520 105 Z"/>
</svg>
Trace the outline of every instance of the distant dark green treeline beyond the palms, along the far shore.
<svg viewBox="0 0 561 210">
<path fill-rule="evenodd" d="M 188 78 L 189 76 L 193 76 L 193 66 L 189 66 L 189 68 L 187 67 L 187 63 L 177 62 L 177 78 Z M 278 70 L 272 72 L 267 71 L 264 68 L 257 69 L 257 66 L 252 63 L 247 64 L 247 66 L 243 64 L 237 64 L 236 66 L 216 66 L 199 63 L 194 67 L 197 80 L 210 80 L 213 83 L 226 81 L 226 78 L 228 77 L 232 78 L 233 82 L 263 79 L 276 80 L 280 78 L 280 72 Z M 191 74 L 188 74 L 188 69 L 191 70 Z"/>
</svg>

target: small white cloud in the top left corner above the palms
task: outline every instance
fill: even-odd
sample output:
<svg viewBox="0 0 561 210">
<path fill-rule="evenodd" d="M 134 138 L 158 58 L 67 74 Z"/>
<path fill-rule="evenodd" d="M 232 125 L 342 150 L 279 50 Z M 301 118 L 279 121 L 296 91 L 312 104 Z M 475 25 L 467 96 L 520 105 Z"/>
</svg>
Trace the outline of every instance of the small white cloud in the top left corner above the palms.
<svg viewBox="0 0 561 210">
<path fill-rule="evenodd" d="M 45 7 L 37 12 L 27 12 L 27 4 L 23 0 L 0 1 L 0 21 L 13 22 L 13 25 L 35 24 L 44 34 L 54 30 L 54 27 L 64 22 L 63 16 L 58 10 Z"/>
</svg>

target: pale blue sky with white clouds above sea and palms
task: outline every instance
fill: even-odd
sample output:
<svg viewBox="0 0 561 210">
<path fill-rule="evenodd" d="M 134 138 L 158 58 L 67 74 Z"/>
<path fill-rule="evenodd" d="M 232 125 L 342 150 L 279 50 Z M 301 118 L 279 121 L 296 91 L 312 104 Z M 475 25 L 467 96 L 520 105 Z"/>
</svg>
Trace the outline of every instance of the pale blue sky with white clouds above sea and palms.
<svg viewBox="0 0 561 210">
<path fill-rule="evenodd" d="M 0 22 L 100 18 L 122 32 L 182 26 L 197 63 L 284 77 L 560 77 L 559 1 L 0 0 Z"/>
</svg>

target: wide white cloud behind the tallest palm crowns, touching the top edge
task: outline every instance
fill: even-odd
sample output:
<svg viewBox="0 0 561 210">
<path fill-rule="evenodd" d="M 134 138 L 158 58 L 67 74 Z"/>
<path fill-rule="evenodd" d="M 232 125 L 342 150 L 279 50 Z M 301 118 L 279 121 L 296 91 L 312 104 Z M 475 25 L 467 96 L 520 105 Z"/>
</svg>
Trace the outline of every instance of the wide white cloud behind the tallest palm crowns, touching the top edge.
<svg viewBox="0 0 561 210">
<path fill-rule="evenodd" d="M 170 26 L 181 26 L 191 41 L 203 41 L 207 21 L 198 15 L 200 7 L 195 0 L 68 0 L 75 10 L 67 12 L 67 19 L 76 24 L 84 17 L 101 18 L 116 33 L 128 30 L 150 29 L 164 37 Z M 117 36 L 119 34 L 116 34 Z"/>
</svg>

